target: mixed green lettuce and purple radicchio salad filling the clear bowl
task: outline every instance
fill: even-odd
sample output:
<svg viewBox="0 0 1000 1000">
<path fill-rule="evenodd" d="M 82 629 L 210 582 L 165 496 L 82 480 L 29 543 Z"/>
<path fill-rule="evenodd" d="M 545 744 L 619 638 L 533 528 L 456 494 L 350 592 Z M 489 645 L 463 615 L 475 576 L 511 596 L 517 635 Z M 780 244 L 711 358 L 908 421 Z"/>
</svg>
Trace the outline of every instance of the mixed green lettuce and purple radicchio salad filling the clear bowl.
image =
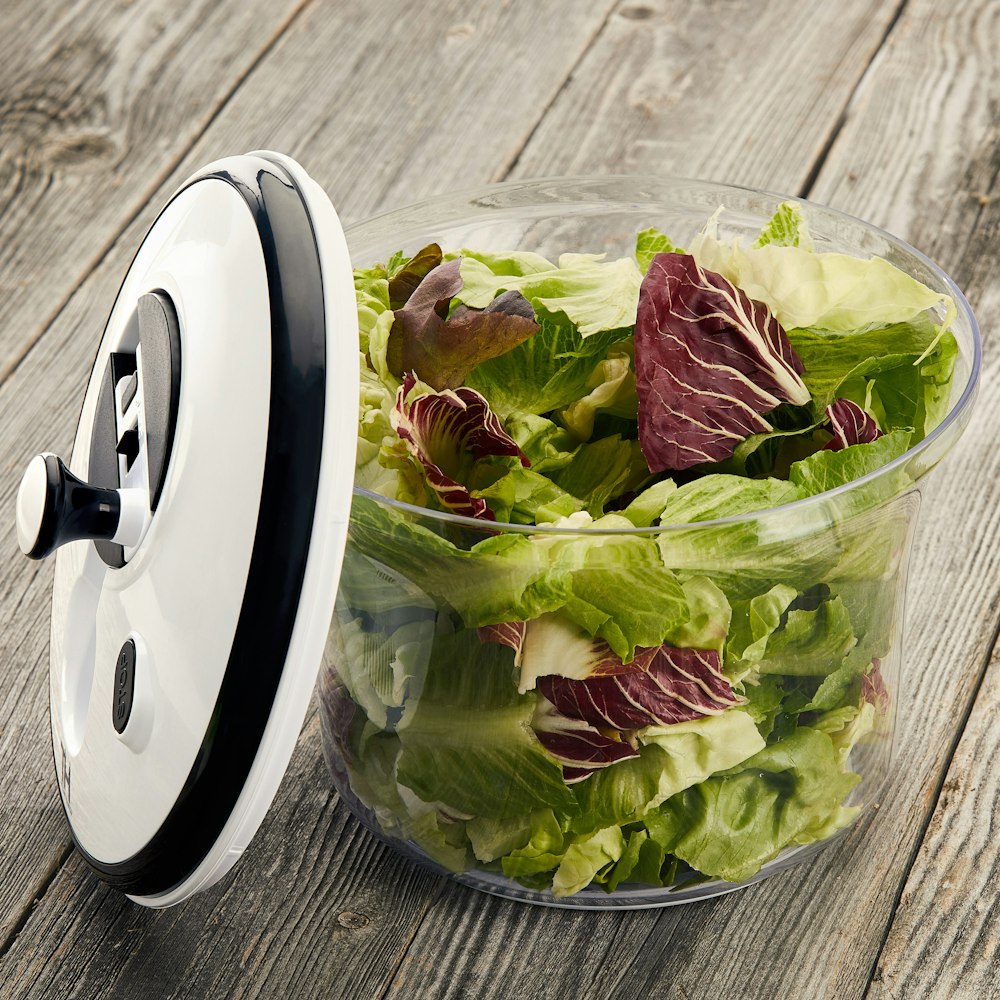
<svg viewBox="0 0 1000 1000">
<path fill-rule="evenodd" d="M 905 463 L 871 474 L 947 411 L 954 305 L 817 251 L 796 203 L 752 245 L 721 211 L 618 260 L 355 271 L 325 749 L 450 871 L 740 882 L 858 812 L 913 514 Z"/>
</svg>

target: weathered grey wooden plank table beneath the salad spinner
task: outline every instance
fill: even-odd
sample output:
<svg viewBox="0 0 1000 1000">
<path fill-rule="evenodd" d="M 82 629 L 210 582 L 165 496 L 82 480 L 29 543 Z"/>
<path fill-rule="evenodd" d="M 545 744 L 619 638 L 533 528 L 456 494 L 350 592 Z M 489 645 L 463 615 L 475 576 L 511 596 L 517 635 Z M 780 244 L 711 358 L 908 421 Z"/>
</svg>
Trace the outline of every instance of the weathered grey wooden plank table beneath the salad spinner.
<svg viewBox="0 0 1000 1000">
<path fill-rule="evenodd" d="M 1000 4 L 5 0 L 0 11 L 0 997 L 1000 997 Z M 48 735 L 51 565 L 16 552 L 121 275 L 174 186 L 259 146 L 343 217 L 551 174 L 806 195 L 921 247 L 986 366 L 923 491 L 898 773 L 809 865 L 663 910 L 529 908 L 416 870 L 331 791 L 315 713 L 234 874 L 128 903 L 74 853 Z"/>
</svg>

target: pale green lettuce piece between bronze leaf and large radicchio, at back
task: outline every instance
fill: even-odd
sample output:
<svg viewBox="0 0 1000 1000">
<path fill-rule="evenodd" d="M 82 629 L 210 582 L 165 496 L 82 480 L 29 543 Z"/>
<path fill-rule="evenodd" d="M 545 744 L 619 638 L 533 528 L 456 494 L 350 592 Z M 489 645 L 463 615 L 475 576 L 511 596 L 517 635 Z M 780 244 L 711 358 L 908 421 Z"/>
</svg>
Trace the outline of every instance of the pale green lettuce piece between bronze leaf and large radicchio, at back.
<svg viewBox="0 0 1000 1000">
<path fill-rule="evenodd" d="M 474 309 L 516 289 L 536 314 L 564 313 L 584 338 L 635 325 L 642 274 L 631 257 L 605 261 L 604 254 L 565 253 L 558 266 L 547 268 L 537 254 L 462 250 L 461 257 L 463 286 L 456 298 Z"/>
</svg>

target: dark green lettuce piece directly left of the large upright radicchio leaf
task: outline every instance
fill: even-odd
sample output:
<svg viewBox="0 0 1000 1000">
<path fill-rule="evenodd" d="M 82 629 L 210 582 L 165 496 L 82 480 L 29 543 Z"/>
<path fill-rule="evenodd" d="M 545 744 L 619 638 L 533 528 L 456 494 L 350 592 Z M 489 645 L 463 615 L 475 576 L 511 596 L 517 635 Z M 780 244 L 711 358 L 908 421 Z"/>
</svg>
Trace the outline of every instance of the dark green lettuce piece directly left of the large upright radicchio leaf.
<svg viewBox="0 0 1000 1000">
<path fill-rule="evenodd" d="M 466 379 L 503 419 L 548 413 L 586 395 L 595 364 L 631 333 L 615 328 L 584 338 L 564 317 L 540 314 L 537 319 L 540 327 L 533 337 L 477 365 Z"/>
</svg>

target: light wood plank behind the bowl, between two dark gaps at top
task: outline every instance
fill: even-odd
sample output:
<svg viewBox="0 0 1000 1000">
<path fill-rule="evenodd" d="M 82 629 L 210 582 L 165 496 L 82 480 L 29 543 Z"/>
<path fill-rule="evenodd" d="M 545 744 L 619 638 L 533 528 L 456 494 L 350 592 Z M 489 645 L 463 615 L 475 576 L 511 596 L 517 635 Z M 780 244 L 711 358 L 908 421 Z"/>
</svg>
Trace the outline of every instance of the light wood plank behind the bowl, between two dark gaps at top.
<svg viewBox="0 0 1000 1000">
<path fill-rule="evenodd" d="M 897 6 L 629 2 L 513 175 L 653 173 L 794 192 Z"/>
</svg>

